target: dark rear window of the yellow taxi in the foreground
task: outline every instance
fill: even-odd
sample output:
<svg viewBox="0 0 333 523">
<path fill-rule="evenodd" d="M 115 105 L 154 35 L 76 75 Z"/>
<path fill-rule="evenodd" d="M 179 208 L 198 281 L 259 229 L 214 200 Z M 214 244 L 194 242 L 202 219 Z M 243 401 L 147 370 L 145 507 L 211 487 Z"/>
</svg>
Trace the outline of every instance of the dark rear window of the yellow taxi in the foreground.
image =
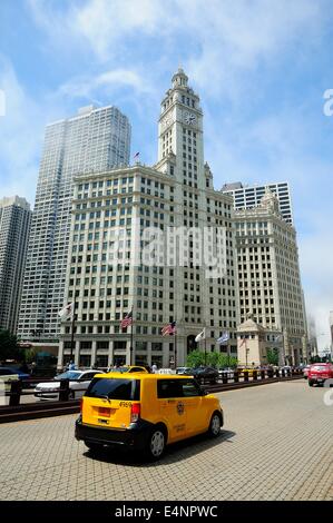
<svg viewBox="0 0 333 523">
<path fill-rule="evenodd" d="M 85 396 L 107 397 L 108 399 L 139 401 L 140 381 L 96 377 L 90 383 Z"/>
</svg>

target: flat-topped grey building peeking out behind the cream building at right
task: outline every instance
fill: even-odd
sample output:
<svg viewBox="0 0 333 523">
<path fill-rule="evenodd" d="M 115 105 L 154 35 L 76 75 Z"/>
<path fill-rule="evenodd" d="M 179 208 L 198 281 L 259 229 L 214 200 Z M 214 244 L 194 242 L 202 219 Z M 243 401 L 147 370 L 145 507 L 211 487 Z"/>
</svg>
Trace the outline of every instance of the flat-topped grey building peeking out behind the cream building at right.
<svg viewBox="0 0 333 523">
<path fill-rule="evenodd" d="M 221 190 L 234 198 L 234 208 L 239 210 L 251 209 L 259 205 L 266 188 L 276 195 L 282 217 L 287 224 L 293 225 L 292 200 L 287 181 L 253 186 L 243 186 L 241 181 L 236 181 L 234 184 L 225 184 Z"/>
</svg>

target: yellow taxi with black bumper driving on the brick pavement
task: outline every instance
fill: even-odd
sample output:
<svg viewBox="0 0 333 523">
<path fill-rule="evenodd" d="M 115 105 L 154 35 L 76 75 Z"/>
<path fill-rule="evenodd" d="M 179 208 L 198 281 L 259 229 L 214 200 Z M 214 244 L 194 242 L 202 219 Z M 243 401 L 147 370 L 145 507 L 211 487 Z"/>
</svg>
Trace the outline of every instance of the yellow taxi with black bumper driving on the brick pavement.
<svg viewBox="0 0 333 523">
<path fill-rule="evenodd" d="M 218 436 L 223 409 L 189 376 L 98 374 L 81 398 L 76 438 L 91 451 L 121 445 L 159 458 L 169 443 L 208 432 Z"/>
</svg>

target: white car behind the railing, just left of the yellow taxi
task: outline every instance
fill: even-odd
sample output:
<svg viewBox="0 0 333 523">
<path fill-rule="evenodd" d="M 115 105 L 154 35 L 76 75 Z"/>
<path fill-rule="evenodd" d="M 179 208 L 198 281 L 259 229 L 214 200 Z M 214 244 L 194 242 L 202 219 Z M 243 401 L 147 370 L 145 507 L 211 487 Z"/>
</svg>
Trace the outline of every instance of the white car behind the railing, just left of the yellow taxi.
<svg viewBox="0 0 333 523">
<path fill-rule="evenodd" d="M 69 379 L 69 397 L 75 399 L 81 397 L 87 391 L 91 379 L 100 371 L 67 371 L 59 374 L 51 382 L 39 383 L 35 388 L 35 396 L 39 399 L 59 399 L 60 379 Z"/>
</svg>

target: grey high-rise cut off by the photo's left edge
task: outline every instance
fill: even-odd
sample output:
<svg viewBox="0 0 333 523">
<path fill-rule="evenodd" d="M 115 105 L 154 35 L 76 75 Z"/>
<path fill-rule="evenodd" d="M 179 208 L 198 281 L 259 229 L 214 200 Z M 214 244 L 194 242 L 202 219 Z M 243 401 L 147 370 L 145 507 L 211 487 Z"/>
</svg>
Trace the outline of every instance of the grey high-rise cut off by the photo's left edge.
<svg viewBox="0 0 333 523">
<path fill-rule="evenodd" d="M 31 210 L 25 198 L 0 200 L 0 329 L 16 334 Z"/>
</svg>

